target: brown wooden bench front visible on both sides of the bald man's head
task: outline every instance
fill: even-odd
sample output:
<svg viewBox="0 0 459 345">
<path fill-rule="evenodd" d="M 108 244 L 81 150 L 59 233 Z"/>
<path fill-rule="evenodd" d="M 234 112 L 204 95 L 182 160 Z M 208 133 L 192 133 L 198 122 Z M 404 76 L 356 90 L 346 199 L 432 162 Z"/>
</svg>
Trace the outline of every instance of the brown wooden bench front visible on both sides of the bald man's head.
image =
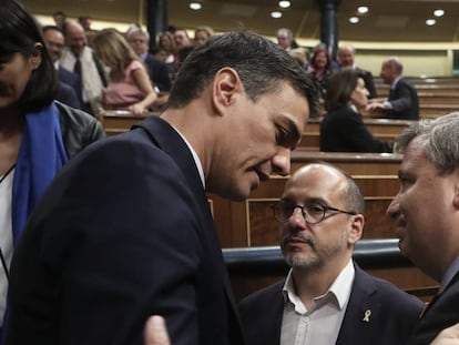
<svg viewBox="0 0 459 345">
<path fill-rule="evenodd" d="M 394 226 L 386 210 L 399 190 L 397 175 L 354 175 L 366 200 L 365 239 L 394 237 Z M 277 201 L 287 177 L 273 176 L 263 182 L 245 202 L 214 201 L 214 221 L 222 246 L 258 246 L 277 244 L 277 223 L 269 207 Z M 215 202 L 216 201 L 216 202 Z"/>
</svg>

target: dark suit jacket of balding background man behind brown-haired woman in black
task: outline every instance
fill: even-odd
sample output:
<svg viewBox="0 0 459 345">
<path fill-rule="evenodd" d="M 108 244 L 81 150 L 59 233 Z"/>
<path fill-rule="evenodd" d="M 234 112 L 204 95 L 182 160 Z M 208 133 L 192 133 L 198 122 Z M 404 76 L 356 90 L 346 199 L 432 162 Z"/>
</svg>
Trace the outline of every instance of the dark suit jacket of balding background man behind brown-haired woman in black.
<svg viewBox="0 0 459 345">
<path fill-rule="evenodd" d="M 392 105 L 388 115 L 390 119 L 419 120 L 418 92 L 409 81 L 401 78 L 390 90 L 388 101 Z"/>
</svg>

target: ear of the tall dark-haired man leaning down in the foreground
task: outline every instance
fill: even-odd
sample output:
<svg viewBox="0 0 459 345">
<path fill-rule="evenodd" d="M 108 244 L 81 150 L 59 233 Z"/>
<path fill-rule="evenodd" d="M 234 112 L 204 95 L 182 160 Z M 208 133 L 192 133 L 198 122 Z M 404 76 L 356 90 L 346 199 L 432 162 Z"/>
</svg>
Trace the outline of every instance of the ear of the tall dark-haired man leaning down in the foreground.
<svg viewBox="0 0 459 345">
<path fill-rule="evenodd" d="M 243 85 L 239 75 L 234 69 L 223 68 L 215 73 L 212 99 L 218 114 L 223 114 L 228 105 L 235 102 L 236 95 L 241 93 Z"/>
</svg>

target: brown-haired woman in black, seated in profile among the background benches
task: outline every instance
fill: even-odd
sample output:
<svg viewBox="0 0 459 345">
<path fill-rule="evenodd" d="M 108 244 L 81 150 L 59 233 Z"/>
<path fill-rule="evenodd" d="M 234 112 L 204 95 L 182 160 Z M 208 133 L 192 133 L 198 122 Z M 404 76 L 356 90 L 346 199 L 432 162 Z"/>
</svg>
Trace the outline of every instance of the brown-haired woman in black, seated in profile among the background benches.
<svg viewBox="0 0 459 345">
<path fill-rule="evenodd" d="M 361 74 L 353 69 L 335 71 L 328 81 L 320 123 L 320 151 L 392 152 L 392 144 L 376 139 L 366 128 L 359 110 L 368 104 Z"/>
</svg>

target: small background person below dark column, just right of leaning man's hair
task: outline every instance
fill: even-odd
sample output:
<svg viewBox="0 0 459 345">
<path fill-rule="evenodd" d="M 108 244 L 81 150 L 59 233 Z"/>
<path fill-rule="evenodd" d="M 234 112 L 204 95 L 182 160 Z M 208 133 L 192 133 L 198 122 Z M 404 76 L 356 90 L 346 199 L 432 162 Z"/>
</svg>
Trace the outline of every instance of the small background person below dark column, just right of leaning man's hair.
<svg viewBox="0 0 459 345">
<path fill-rule="evenodd" d="M 313 79 L 320 100 L 324 100 L 328 77 L 332 74 L 332 59 L 325 44 L 314 49 L 306 73 Z"/>
</svg>

